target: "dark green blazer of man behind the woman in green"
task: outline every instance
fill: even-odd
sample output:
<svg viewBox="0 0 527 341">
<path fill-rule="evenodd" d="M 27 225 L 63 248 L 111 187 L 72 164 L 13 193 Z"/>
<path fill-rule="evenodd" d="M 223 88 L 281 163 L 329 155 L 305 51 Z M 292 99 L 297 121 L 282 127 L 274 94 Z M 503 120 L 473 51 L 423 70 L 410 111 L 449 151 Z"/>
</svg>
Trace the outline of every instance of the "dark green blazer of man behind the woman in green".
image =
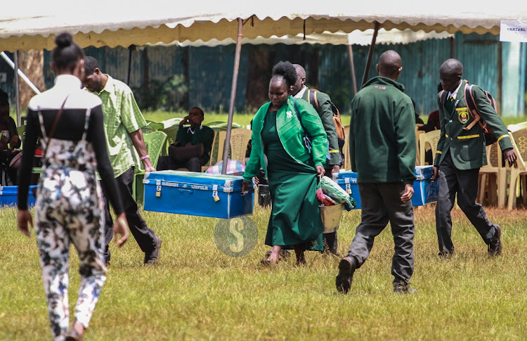
<svg viewBox="0 0 527 341">
<path fill-rule="evenodd" d="M 322 125 L 324 126 L 324 129 L 326 131 L 327 141 L 330 143 L 330 160 L 326 160 L 325 167 L 331 168 L 334 165 L 340 165 L 339 141 L 337 138 L 337 130 L 335 129 L 335 124 L 333 122 L 333 111 L 331 110 L 330 105 L 331 98 L 329 95 L 324 94 L 320 91 L 315 91 L 315 96 L 318 102 L 317 112 L 320 116 L 320 120 L 322 120 Z M 309 89 L 306 88 L 306 91 L 304 91 L 304 94 L 302 95 L 302 99 L 306 102 L 309 102 L 308 97 Z M 311 104 L 316 110 L 315 105 L 313 103 Z"/>
</svg>

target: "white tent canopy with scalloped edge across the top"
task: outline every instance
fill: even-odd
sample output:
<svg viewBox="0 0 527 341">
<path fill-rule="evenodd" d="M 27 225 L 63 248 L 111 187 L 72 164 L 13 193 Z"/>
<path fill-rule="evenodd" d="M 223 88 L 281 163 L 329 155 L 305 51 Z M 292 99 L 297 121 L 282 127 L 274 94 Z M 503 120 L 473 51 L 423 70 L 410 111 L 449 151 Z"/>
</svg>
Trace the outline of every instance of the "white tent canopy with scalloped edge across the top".
<svg viewBox="0 0 527 341">
<path fill-rule="evenodd" d="M 467 0 L 455 6 L 429 1 L 106 1 L 20 0 L 2 8 L 0 51 L 53 49 L 58 32 L 74 34 L 86 46 L 129 46 L 173 41 L 365 31 L 379 22 L 385 30 L 500 32 L 500 20 L 527 20 L 527 1 L 484 6 Z"/>
</svg>

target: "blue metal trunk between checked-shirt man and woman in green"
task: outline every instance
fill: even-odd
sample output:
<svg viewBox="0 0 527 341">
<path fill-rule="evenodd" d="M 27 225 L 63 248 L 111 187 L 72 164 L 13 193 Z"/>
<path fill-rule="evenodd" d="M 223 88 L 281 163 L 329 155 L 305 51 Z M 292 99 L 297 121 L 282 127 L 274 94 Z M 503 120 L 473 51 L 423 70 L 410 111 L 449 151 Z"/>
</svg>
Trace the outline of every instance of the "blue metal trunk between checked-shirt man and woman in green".
<svg viewBox="0 0 527 341">
<path fill-rule="evenodd" d="M 233 218 L 252 214 L 254 187 L 242 193 L 242 176 L 182 171 L 145 174 L 145 211 Z"/>
</svg>

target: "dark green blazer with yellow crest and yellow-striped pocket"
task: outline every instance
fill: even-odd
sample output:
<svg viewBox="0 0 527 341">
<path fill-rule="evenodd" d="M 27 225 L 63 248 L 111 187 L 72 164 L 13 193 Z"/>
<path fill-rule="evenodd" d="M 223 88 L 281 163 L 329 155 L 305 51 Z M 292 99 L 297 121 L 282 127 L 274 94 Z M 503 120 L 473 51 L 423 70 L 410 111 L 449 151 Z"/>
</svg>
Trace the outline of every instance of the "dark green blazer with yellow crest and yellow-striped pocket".
<svg viewBox="0 0 527 341">
<path fill-rule="evenodd" d="M 480 168 L 487 164 L 487 154 L 485 148 L 485 134 L 479 124 L 474 124 L 470 130 L 463 130 L 474 119 L 469 114 L 467 103 L 464 98 L 464 86 L 467 81 L 462 80 L 460 89 L 457 91 L 452 112 L 445 112 L 438 94 L 437 103 L 439 105 L 439 121 L 441 122 L 441 137 L 437 143 L 436 157 L 434 166 L 441 165 L 446 152 L 450 149 L 450 157 L 457 169 Z M 512 148 L 512 143 L 507 133 L 507 127 L 503 123 L 496 110 L 488 102 L 483 90 L 479 86 L 472 86 L 472 94 L 476 105 L 480 111 L 481 118 L 493 130 L 497 141 L 500 143 L 501 150 Z"/>
</svg>

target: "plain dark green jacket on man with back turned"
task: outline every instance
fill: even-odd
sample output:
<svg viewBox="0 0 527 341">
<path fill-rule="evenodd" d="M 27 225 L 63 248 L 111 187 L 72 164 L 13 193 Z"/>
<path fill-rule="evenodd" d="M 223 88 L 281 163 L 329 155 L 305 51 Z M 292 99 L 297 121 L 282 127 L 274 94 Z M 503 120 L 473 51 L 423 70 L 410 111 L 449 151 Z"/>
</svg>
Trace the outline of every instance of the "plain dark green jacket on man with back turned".
<svg viewBox="0 0 527 341">
<path fill-rule="evenodd" d="M 415 113 L 403 84 L 370 79 L 351 101 L 351 169 L 358 183 L 415 180 Z"/>
</svg>

